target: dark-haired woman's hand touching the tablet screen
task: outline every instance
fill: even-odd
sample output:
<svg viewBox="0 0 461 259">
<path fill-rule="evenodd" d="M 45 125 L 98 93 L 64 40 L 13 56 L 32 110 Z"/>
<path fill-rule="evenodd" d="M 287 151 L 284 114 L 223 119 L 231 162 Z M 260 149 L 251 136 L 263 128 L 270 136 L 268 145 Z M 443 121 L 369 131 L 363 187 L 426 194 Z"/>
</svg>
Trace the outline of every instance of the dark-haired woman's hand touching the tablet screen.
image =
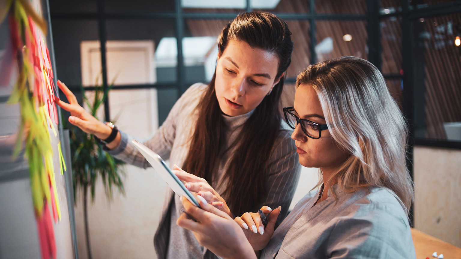
<svg viewBox="0 0 461 259">
<path fill-rule="evenodd" d="M 173 166 L 173 172 L 179 180 L 186 182 L 184 186 L 186 186 L 189 191 L 197 193 L 197 195 L 205 198 L 209 204 L 227 213 L 230 217 L 233 217 L 226 201 L 213 189 L 213 187 L 211 187 L 210 184 L 208 184 L 205 179 L 189 174 L 177 165 Z"/>
</svg>

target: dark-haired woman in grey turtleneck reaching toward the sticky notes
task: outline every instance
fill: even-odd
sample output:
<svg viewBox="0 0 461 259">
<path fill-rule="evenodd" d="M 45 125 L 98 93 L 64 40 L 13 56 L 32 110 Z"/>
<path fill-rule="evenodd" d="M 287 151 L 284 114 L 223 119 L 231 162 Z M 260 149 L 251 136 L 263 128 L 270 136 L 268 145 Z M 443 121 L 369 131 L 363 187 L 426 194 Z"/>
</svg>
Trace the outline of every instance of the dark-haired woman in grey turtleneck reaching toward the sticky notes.
<svg viewBox="0 0 461 259">
<path fill-rule="evenodd" d="M 188 188 L 230 217 L 260 206 L 283 206 L 286 215 L 299 177 L 296 146 L 282 127 L 279 102 L 293 42 L 288 25 L 267 12 L 242 13 L 218 38 L 216 71 L 209 85 L 192 85 L 144 144 L 171 165 L 195 174 Z M 148 162 L 132 137 L 91 117 L 62 82 L 69 122 L 106 140 L 106 150 L 130 164 Z M 107 140 L 109 138 L 109 140 Z M 174 167 L 176 170 L 179 167 Z M 159 258 L 209 258 L 189 230 L 175 222 L 182 209 L 171 189 L 154 236 Z M 222 197 L 219 195 L 221 194 Z M 248 197 L 253 197 L 248 199 Z M 248 226 L 247 226 L 248 228 Z M 250 229 L 257 233 L 258 229 Z M 259 229 L 263 234 L 263 228 Z"/>
</svg>

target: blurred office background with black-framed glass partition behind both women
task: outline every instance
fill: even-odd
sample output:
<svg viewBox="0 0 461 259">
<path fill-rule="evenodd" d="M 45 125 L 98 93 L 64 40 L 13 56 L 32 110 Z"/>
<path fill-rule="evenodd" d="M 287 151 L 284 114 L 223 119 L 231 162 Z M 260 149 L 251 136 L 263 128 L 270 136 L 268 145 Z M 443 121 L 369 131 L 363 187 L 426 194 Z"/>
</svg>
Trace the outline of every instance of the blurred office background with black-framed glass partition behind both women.
<svg viewBox="0 0 461 259">
<path fill-rule="evenodd" d="M 282 106 L 292 104 L 296 75 L 307 65 L 344 55 L 369 60 L 410 125 L 411 224 L 461 247 L 461 1 L 49 0 L 49 11 L 59 80 L 79 100 L 111 86 L 99 118 L 139 138 L 158 129 L 191 84 L 211 80 L 216 38 L 241 12 L 273 12 L 290 26 L 294 51 Z M 153 169 L 124 171 L 125 193 L 114 189 L 112 200 L 96 181 L 88 204 L 93 257 L 155 258 L 167 186 Z M 291 207 L 318 180 L 317 169 L 303 168 Z M 81 259 L 84 218 L 79 189 L 73 235 Z"/>
</svg>

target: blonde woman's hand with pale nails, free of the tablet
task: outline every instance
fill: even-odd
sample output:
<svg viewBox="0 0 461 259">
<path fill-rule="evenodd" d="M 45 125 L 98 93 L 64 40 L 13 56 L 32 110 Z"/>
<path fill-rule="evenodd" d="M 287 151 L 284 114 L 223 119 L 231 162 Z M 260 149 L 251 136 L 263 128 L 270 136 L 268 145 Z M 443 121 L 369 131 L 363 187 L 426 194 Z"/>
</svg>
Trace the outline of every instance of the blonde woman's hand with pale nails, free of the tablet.
<svg viewBox="0 0 461 259">
<path fill-rule="evenodd" d="M 266 227 L 262 224 L 261 217 L 258 213 L 245 212 L 242 217 L 235 217 L 234 220 L 242 227 L 254 251 L 262 250 L 271 240 L 274 234 L 275 222 L 277 221 L 281 209 L 281 206 L 278 206 L 278 208 L 273 211 L 268 206 L 261 207 L 261 211 L 264 212 L 268 218 Z"/>
</svg>

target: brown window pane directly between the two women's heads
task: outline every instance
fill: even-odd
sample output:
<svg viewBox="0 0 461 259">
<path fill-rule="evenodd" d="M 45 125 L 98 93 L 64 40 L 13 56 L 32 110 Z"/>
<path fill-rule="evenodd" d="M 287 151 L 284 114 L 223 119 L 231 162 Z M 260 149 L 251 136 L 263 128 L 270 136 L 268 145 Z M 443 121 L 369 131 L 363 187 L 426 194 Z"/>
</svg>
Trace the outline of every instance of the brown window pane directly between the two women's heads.
<svg viewBox="0 0 461 259">
<path fill-rule="evenodd" d="M 311 63 L 309 46 L 311 27 L 308 21 L 286 21 L 292 33 L 291 40 L 294 48 L 291 54 L 291 64 L 288 67 L 287 77 L 295 77 Z"/>
</svg>

